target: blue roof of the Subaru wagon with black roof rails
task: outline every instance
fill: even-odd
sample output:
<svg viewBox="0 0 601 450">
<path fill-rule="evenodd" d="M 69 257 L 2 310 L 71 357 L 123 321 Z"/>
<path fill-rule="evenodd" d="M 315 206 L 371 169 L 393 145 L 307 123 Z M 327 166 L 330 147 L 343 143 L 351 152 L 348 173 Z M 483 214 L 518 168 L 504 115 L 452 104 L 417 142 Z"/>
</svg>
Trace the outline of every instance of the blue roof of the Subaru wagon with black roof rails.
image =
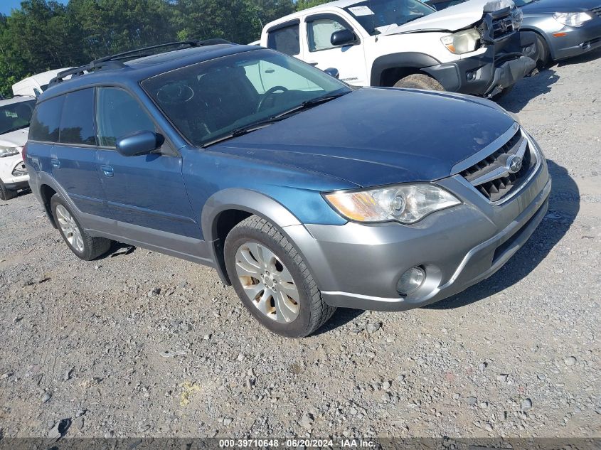
<svg viewBox="0 0 601 450">
<path fill-rule="evenodd" d="M 144 56 L 129 60 L 123 64 L 115 65 L 114 68 L 102 68 L 85 75 L 73 76 L 70 80 L 64 80 L 51 85 L 43 92 L 38 100 L 43 101 L 55 97 L 70 90 L 89 87 L 102 83 L 110 84 L 138 84 L 154 75 L 166 73 L 171 70 L 186 67 L 196 63 L 221 58 L 249 50 L 258 50 L 256 46 L 237 44 L 201 45 L 198 47 L 171 50 L 156 55 Z"/>
</svg>

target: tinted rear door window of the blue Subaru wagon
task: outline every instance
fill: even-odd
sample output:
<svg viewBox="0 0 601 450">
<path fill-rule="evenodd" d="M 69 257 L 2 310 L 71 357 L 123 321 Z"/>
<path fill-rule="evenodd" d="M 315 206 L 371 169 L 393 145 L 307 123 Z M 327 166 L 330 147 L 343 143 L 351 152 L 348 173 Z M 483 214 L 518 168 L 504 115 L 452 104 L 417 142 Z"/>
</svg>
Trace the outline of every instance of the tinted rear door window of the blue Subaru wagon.
<svg viewBox="0 0 601 450">
<path fill-rule="evenodd" d="M 58 141 L 62 144 L 96 144 L 94 90 L 84 89 L 66 95 Z"/>
</svg>

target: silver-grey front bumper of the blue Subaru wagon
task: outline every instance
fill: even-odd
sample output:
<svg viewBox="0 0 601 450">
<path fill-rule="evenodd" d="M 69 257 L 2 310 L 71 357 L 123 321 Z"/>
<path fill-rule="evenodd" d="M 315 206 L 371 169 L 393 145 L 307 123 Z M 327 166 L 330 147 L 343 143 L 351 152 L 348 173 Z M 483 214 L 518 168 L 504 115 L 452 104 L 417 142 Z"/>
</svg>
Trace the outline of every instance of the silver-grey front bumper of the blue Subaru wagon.
<svg viewBox="0 0 601 450">
<path fill-rule="evenodd" d="M 305 225 L 312 242 L 287 227 L 309 262 L 324 301 L 346 308 L 401 311 L 457 294 L 501 268 L 546 213 L 551 191 L 546 162 L 543 159 L 514 198 L 498 206 L 459 178 L 439 184 L 464 203 L 412 226 Z M 414 294 L 400 296 L 396 291 L 400 275 L 417 265 L 425 268 L 425 283 Z"/>
</svg>

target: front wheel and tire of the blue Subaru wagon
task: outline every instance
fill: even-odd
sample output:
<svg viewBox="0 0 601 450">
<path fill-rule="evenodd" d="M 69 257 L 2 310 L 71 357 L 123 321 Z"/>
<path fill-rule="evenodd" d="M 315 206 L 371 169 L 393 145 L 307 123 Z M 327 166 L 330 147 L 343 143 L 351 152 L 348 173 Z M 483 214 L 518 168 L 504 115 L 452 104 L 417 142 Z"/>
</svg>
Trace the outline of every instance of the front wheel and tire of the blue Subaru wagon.
<svg viewBox="0 0 601 450">
<path fill-rule="evenodd" d="M 307 264 L 275 225 L 252 215 L 225 238 L 225 267 L 236 294 L 263 326 L 302 338 L 336 308 L 321 299 Z"/>
</svg>

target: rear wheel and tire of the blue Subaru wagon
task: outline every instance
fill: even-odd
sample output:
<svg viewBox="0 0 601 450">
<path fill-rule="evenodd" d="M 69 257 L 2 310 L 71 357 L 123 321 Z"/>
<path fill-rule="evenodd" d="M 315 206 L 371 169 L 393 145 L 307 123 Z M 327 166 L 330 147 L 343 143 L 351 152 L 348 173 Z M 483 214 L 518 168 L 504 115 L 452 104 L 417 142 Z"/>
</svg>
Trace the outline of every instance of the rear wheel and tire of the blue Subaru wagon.
<svg viewBox="0 0 601 450">
<path fill-rule="evenodd" d="M 50 198 L 50 210 L 58 232 L 75 256 L 84 261 L 92 261 L 109 251 L 112 240 L 88 235 L 58 194 Z"/>
</svg>

